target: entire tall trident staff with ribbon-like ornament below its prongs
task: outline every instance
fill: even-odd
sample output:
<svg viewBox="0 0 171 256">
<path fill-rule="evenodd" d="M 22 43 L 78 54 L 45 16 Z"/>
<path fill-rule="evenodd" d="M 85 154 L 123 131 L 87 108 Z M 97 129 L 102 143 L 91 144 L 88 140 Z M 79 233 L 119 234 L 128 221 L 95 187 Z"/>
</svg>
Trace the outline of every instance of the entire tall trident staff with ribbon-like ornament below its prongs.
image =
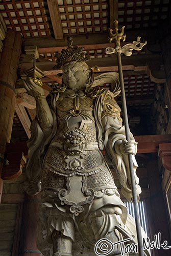
<svg viewBox="0 0 171 256">
<path fill-rule="evenodd" d="M 117 20 L 114 21 L 114 25 L 115 25 L 114 30 L 109 29 L 109 41 L 115 42 L 115 48 L 112 48 L 112 47 L 106 48 L 106 54 L 115 53 L 117 55 L 118 71 L 119 71 L 119 78 L 120 78 L 120 89 L 121 89 L 121 101 L 122 101 L 123 114 L 124 114 L 125 133 L 126 133 L 126 139 L 129 143 L 130 129 L 129 129 L 129 123 L 128 123 L 127 104 L 126 104 L 125 88 L 124 88 L 124 77 L 123 77 L 123 69 L 121 65 L 120 54 L 124 53 L 126 56 L 131 56 L 132 50 L 140 51 L 142 47 L 146 45 L 146 41 L 144 43 L 141 43 L 140 37 L 137 37 L 137 41 L 133 41 L 132 44 L 127 44 L 121 47 L 120 40 L 125 41 L 126 39 L 126 35 L 124 34 L 125 26 L 121 28 L 120 32 L 118 32 Z M 139 211 L 138 211 L 138 200 L 137 200 L 136 188 L 135 188 L 134 168 L 133 168 L 133 161 L 132 161 L 131 154 L 128 155 L 128 159 L 129 159 L 132 195 L 133 195 L 133 203 L 134 203 L 134 211 L 135 211 L 135 223 L 136 223 L 137 240 L 138 240 L 138 247 L 139 247 L 139 256 L 144 256 L 143 241 L 142 241 L 141 226 L 140 226 Z"/>
</svg>

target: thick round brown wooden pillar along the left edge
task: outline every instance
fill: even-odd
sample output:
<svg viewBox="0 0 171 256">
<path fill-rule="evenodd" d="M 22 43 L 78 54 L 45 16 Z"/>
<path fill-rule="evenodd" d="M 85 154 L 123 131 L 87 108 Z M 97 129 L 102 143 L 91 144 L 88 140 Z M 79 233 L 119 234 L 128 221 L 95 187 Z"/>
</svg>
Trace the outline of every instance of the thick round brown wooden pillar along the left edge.
<svg viewBox="0 0 171 256">
<path fill-rule="evenodd" d="M 16 102 L 15 82 L 21 52 L 22 37 L 8 29 L 0 61 L 0 178 L 6 143 L 10 142 Z M 2 190 L 1 180 L 0 192 Z"/>
</svg>

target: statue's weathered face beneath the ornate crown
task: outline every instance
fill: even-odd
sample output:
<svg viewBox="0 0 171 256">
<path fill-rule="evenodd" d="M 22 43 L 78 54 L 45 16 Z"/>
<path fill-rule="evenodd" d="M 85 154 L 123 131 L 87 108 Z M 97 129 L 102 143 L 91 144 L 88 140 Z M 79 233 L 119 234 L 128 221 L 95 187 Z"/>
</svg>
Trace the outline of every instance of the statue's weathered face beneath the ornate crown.
<svg viewBox="0 0 171 256">
<path fill-rule="evenodd" d="M 85 88 L 89 76 L 89 69 L 80 61 L 71 61 L 63 66 L 63 81 L 73 91 Z"/>
</svg>

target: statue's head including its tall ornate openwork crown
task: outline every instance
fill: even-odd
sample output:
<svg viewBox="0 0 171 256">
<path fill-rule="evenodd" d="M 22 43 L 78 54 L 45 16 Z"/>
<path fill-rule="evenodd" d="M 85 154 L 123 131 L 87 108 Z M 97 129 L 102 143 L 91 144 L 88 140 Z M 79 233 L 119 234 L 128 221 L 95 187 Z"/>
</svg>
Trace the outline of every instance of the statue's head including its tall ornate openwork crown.
<svg viewBox="0 0 171 256">
<path fill-rule="evenodd" d="M 84 47 L 72 46 L 72 38 L 68 37 L 68 47 L 57 56 L 54 69 L 63 70 L 63 83 L 74 91 L 82 90 L 91 80 L 92 71 L 86 61 Z"/>
</svg>

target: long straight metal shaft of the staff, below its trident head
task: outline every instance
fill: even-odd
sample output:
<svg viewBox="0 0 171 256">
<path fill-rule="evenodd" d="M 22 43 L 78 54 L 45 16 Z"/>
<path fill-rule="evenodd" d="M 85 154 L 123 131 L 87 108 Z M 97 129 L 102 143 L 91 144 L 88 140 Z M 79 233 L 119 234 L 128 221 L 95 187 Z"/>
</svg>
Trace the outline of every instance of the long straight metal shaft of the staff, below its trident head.
<svg viewBox="0 0 171 256">
<path fill-rule="evenodd" d="M 117 54 L 118 71 L 119 71 L 119 78 L 120 78 L 121 101 L 122 101 L 122 106 L 123 106 L 125 133 L 126 133 L 126 139 L 129 142 L 130 141 L 130 129 L 129 129 L 129 123 L 128 123 L 128 114 L 127 114 L 127 104 L 126 104 L 126 97 L 125 97 L 123 69 L 122 69 L 122 65 L 121 65 L 120 52 L 117 52 L 116 54 Z M 137 231 L 139 256 L 144 256 L 143 240 L 142 240 L 140 218 L 139 218 L 139 211 L 138 211 L 138 200 L 137 200 L 136 186 L 135 186 L 134 167 L 133 167 L 133 160 L 132 160 L 132 155 L 131 154 L 128 155 L 128 160 L 129 160 L 129 167 L 130 167 L 130 177 L 131 177 L 132 196 L 133 196 L 134 211 L 135 211 L 135 224 L 136 224 L 136 231 Z"/>
</svg>

